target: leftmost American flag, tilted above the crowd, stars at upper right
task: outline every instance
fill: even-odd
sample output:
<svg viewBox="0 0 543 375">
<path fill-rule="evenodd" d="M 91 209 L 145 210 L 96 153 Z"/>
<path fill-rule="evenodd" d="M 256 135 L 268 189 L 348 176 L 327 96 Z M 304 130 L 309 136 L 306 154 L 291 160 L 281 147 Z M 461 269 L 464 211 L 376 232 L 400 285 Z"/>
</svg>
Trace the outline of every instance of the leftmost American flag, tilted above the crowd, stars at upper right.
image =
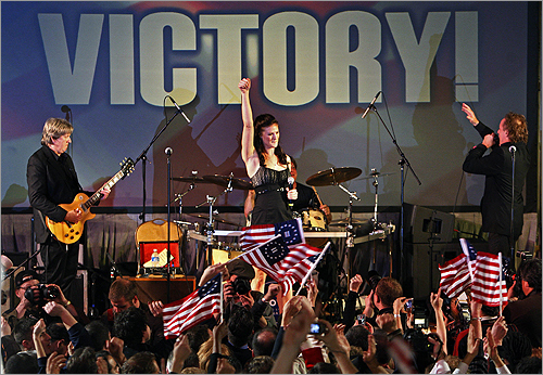
<svg viewBox="0 0 543 375">
<path fill-rule="evenodd" d="M 184 299 L 164 306 L 164 338 L 176 338 L 214 313 L 220 313 L 222 283 L 223 274 L 219 273 Z"/>
</svg>

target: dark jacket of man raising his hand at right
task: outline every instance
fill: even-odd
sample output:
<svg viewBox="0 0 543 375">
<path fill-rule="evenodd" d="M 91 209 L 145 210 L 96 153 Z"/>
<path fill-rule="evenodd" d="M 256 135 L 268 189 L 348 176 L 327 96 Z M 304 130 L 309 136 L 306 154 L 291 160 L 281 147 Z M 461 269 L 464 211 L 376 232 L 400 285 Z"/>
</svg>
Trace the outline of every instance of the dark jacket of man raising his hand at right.
<svg viewBox="0 0 543 375">
<path fill-rule="evenodd" d="M 492 132 L 482 122 L 476 127 L 481 137 Z M 513 159 L 509 147 L 515 145 L 515 232 L 517 238 L 522 232 L 525 185 L 530 156 L 526 143 L 504 143 L 492 147 L 489 155 L 484 156 L 487 146 L 479 144 L 471 148 L 464 161 L 463 169 L 468 173 L 484 174 L 484 194 L 481 199 L 482 231 L 510 235 L 510 202 Z"/>
</svg>

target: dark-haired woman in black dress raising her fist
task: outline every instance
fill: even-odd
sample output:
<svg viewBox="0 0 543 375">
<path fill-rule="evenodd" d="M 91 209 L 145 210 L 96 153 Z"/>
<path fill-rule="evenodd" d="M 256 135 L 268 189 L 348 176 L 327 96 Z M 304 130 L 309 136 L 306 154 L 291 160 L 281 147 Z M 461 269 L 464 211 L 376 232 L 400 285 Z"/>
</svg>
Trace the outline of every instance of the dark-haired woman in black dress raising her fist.
<svg viewBox="0 0 543 375">
<path fill-rule="evenodd" d="M 243 78 L 241 90 L 241 158 L 255 190 L 251 224 L 275 224 L 292 219 L 288 199 L 295 201 L 295 189 L 289 191 L 290 157 L 279 145 L 279 124 L 269 114 L 254 119 L 249 100 L 251 79 Z"/>
</svg>

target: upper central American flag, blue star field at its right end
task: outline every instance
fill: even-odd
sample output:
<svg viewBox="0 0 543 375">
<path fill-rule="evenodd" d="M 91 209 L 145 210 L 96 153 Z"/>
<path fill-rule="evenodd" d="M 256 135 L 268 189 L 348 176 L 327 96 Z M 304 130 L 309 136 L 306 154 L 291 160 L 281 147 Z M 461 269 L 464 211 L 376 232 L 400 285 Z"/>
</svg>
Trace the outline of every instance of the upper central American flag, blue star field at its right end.
<svg viewBox="0 0 543 375">
<path fill-rule="evenodd" d="M 241 249 L 249 251 L 279 234 L 287 246 L 304 243 L 302 219 L 292 219 L 277 224 L 245 227 L 240 235 Z"/>
</svg>

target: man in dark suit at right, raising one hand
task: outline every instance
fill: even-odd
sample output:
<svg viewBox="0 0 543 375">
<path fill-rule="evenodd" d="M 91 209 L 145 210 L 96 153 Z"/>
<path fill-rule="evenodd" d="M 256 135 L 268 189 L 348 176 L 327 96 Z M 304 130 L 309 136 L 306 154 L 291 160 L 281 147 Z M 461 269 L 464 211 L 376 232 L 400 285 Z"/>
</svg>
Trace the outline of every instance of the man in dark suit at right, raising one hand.
<svg viewBox="0 0 543 375">
<path fill-rule="evenodd" d="M 463 104 L 462 111 L 483 138 L 479 145 L 469 151 L 463 169 L 468 173 L 485 176 L 481 214 L 482 231 L 489 232 L 489 253 L 510 256 L 510 248 L 522 232 L 522 189 L 530 167 L 526 118 L 509 112 L 500 122 L 497 134 L 494 134 L 489 127 L 477 119 L 468 105 Z M 492 151 L 484 155 L 488 148 Z M 513 156 L 515 156 L 515 181 L 513 181 Z M 512 196 L 513 190 L 515 196 Z M 514 203 L 513 231 L 512 203 Z"/>
</svg>

